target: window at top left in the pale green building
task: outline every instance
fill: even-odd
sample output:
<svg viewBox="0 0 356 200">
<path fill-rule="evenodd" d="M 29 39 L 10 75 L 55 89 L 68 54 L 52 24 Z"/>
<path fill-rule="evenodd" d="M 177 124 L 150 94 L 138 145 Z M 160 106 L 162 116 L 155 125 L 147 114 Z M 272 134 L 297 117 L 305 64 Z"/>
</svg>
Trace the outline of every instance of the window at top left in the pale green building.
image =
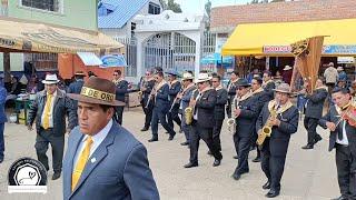
<svg viewBox="0 0 356 200">
<path fill-rule="evenodd" d="M 60 12 L 61 0 L 21 0 L 22 7 L 29 7 L 52 12 Z"/>
</svg>

